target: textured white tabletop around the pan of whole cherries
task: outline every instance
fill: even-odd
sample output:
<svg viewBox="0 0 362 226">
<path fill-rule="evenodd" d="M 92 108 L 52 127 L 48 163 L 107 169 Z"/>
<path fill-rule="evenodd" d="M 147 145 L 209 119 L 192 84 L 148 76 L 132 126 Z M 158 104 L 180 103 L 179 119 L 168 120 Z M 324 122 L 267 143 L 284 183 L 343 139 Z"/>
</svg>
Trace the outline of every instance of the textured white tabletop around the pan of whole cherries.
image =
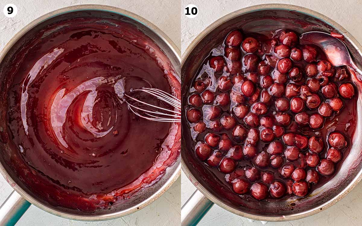
<svg viewBox="0 0 362 226">
<path fill-rule="evenodd" d="M 268 0 L 218 0 L 210 3 L 210 0 L 182 0 L 182 8 L 188 4 L 194 4 L 198 7 L 199 13 L 195 18 L 181 18 L 181 52 L 184 52 L 189 43 L 208 25 L 218 18 L 231 13 L 237 9 L 245 8 L 251 5 L 265 3 L 285 3 L 299 5 L 310 8 L 317 12 L 332 18 L 338 24 L 345 27 L 358 41 L 362 43 L 361 29 L 361 8 L 362 1 L 359 0 L 290 0 L 290 1 L 268 1 Z M 195 187 L 181 174 L 181 203 L 184 204 Z M 324 225 L 361 225 L 362 222 L 362 183 L 359 183 L 352 192 L 344 199 L 311 217 L 289 221 L 289 222 L 268 222 L 267 225 L 273 226 L 324 226 Z M 252 222 L 252 223 L 251 223 Z M 232 226 L 256 226 L 262 225 L 260 221 L 250 221 L 248 218 L 232 214 L 221 207 L 214 205 L 199 225 L 232 225 Z"/>
</svg>

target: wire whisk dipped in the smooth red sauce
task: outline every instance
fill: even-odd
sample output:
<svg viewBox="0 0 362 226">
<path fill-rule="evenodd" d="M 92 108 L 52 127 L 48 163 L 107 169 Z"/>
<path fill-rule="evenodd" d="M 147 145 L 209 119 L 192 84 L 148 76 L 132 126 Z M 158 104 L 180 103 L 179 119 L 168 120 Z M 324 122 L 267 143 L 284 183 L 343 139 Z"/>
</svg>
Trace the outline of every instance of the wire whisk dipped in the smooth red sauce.
<svg viewBox="0 0 362 226">
<path fill-rule="evenodd" d="M 130 101 L 126 100 L 126 103 L 129 109 L 136 115 L 141 118 L 151 120 L 151 121 L 163 121 L 163 122 L 181 122 L 181 101 L 174 97 L 173 95 L 166 93 L 165 91 L 153 88 L 142 88 L 142 89 L 134 89 L 134 91 L 142 91 L 148 94 L 151 94 L 153 97 L 168 103 L 174 110 L 170 110 L 164 107 L 155 106 L 150 103 L 146 103 L 134 97 L 131 97 L 127 94 L 124 94 L 129 99 L 135 101 L 135 103 L 141 103 L 143 105 L 149 106 L 150 110 L 145 109 L 144 107 L 137 107 L 132 105 Z M 153 108 L 153 109 L 152 109 Z M 159 110 L 158 110 L 159 109 Z M 161 112 L 162 110 L 163 112 Z"/>
</svg>

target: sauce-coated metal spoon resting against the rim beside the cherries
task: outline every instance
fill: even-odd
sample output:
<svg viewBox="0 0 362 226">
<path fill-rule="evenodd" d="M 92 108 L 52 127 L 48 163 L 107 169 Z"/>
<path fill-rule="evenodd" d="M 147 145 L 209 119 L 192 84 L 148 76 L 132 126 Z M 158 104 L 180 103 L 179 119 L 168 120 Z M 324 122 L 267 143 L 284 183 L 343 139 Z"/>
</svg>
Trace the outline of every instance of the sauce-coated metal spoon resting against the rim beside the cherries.
<svg viewBox="0 0 362 226">
<path fill-rule="evenodd" d="M 362 76 L 362 71 L 353 63 L 352 57 L 345 44 L 338 38 L 320 31 L 306 32 L 300 35 L 300 41 L 306 44 L 314 44 L 320 47 L 334 66 L 346 65 Z M 360 77 L 358 76 L 358 77 Z"/>
</svg>

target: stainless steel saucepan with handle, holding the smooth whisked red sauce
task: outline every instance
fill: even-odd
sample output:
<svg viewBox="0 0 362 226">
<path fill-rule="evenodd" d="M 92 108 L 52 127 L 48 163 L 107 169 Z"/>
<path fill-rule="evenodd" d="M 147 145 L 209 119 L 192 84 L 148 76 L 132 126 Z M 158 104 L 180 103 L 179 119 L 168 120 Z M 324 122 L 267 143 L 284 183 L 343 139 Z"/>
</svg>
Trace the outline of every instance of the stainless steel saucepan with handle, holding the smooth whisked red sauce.
<svg viewBox="0 0 362 226">
<path fill-rule="evenodd" d="M 105 21 L 112 18 L 113 20 L 125 21 L 137 26 L 139 30 L 143 31 L 144 34 L 158 44 L 170 60 L 175 70 L 174 73 L 180 72 L 181 59 L 178 54 L 179 50 L 167 35 L 151 22 L 134 13 L 105 5 L 76 5 L 58 9 L 37 18 L 19 31 L 5 46 L 0 54 L 0 72 L 5 71 L 11 57 L 16 54 L 17 50 L 26 42 L 26 40 L 34 36 L 39 30 L 57 21 L 82 16 L 104 18 Z M 4 86 L 4 84 L 2 84 L 4 81 L 5 80 L 2 78 L 0 86 Z M 12 185 L 14 191 L 0 207 L 0 225 L 14 225 L 29 208 L 30 203 L 56 216 L 81 221 L 101 221 L 122 217 L 142 209 L 160 197 L 178 178 L 181 168 L 181 157 L 178 157 L 177 162 L 167 168 L 159 182 L 144 189 L 137 195 L 134 195 L 127 200 L 127 202 L 115 205 L 114 208 L 109 210 L 105 209 L 94 213 L 80 213 L 79 211 L 76 212 L 74 210 L 49 205 L 34 196 L 33 193 L 26 188 L 25 184 L 22 184 L 15 176 L 14 172 L 11 171 L 11 168 L 7 166 L 7 163 L 5 162 L 5 153 L 8 153 L 6 145 L 0 145 L 0 172 L 8 183 Z"/>
</svg>

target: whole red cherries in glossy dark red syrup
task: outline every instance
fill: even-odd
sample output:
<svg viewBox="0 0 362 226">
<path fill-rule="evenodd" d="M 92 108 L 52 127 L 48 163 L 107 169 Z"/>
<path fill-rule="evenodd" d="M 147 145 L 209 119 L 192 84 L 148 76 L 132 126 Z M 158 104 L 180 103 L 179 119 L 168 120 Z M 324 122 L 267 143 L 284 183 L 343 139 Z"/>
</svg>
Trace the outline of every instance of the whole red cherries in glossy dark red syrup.
<svg viewBox="0 0 362 226">
<path fill-rule="evenodd" d="M 189 150 L 243 199 L 305 197 L 349 153 L 357 88 L 298 37 L 231 31 L 190 84 Z"/>
</svg>

